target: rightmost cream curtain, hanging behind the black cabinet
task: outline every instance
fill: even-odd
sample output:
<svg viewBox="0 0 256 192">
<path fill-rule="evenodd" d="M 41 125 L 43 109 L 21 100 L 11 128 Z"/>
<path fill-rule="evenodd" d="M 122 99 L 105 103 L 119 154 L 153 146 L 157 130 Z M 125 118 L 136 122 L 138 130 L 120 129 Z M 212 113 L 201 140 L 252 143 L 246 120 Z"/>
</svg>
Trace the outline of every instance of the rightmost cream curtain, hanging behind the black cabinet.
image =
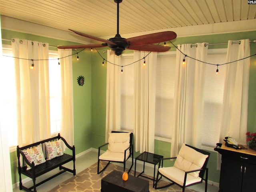
<svg viewBox="0 0 256 192">
<path fill-rule="evenodd" d="M 226 62 L 232 63 L 226 69 L 220 141 L 230 136 L 239 144 L 246 144 L 250 58 L 242 58 L 250 56 L 250 40 L 240 42 L 228 41 Z"/>
</svg>

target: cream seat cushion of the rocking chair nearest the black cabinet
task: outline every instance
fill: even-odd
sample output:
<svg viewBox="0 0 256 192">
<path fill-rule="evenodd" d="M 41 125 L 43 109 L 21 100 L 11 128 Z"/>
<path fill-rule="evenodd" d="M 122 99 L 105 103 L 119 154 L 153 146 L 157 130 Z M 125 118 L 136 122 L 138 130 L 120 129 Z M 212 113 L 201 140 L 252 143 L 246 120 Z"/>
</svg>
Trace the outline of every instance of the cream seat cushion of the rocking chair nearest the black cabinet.
<svg viewBox="0 0 256 192">
<path fill-rule="evenodd" d="M 178 183 L 179 185 L 183 186 L 184 183 L 184 177 L 185 177 L 185 172 L 183 170 L 180 170 L 179 168 L 176 167 L 166 167 L 166 168 L 159 168 L 158 171 L 169 178 L 170 180 Z M 186 186 L 200 182 L 202 179 L 200 177 L 194 177 L 190 174 L 187 174 L 186 178 Z"/>
</svg>

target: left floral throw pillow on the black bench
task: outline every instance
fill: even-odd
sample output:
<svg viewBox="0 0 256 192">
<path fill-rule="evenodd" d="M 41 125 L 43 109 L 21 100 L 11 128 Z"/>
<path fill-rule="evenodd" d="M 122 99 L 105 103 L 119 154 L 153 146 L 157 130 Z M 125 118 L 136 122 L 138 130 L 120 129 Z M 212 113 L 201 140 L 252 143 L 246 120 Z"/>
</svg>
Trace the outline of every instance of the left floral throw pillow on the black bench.
<svg viewBox="0 0 256 192">
<path fill-rule="evenodd" d="M 34 162 L 35 166 L 46 162 L 42 150 L 42 144 L 33 148 L 22 150 L 22 152 L 25 154 L 30 163 Z M 31 167 L 27 165 L 27 170 L 29 169 L 31 169 Z"/>
</svg>

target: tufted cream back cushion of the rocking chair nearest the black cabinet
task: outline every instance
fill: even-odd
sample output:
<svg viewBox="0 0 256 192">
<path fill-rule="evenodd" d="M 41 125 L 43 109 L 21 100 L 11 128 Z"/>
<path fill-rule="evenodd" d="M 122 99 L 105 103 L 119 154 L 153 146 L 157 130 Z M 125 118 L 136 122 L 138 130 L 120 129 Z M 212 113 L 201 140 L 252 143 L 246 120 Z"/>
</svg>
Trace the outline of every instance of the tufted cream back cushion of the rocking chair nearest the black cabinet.
<svg viewBox="0 0 256 192">
<path fill-rule="evenodd" d="M 197 170 L 202 168 L 207 157 L 208 155 L 197 152 L 183 144 L 174 162 L 174 167 L 183 171 Z M 199 176 L 199 171 L 189 174 L 197 178 Z"/>
</svg>

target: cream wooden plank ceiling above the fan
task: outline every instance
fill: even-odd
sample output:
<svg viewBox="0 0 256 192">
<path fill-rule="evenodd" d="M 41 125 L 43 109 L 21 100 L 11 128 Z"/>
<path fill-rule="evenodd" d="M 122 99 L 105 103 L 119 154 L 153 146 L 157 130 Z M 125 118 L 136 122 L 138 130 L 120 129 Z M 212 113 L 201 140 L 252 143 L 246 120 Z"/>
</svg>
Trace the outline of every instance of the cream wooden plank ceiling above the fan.
<svg viewBox="0 0 256 192">
<path fill-rule="evenodd" d="M 94 36 L 116 34 L 114 0 L 0 0 L 0 14 Z M 256 18 L 247 0 L 123 0 L 119 33 L 129 34 Z"/>
</svg>

